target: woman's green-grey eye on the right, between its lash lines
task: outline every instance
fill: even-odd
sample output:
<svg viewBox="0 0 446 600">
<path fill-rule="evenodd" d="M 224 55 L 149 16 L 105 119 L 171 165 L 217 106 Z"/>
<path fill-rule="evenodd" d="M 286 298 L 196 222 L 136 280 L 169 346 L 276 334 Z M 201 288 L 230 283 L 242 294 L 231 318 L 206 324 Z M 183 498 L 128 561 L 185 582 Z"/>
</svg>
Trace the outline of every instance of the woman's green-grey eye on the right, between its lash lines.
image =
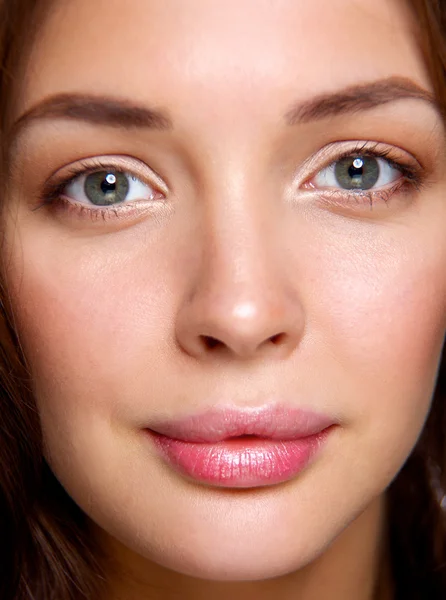
<svg viewBox="0 0 446 600">
<path fill-rule="evenodd" d="M 367 191 L 391 185 L 401 177 L 401 169 L 384 158 L 352 154 L 319 171 L 309 183 L 316 188 Z"/>
</svg>

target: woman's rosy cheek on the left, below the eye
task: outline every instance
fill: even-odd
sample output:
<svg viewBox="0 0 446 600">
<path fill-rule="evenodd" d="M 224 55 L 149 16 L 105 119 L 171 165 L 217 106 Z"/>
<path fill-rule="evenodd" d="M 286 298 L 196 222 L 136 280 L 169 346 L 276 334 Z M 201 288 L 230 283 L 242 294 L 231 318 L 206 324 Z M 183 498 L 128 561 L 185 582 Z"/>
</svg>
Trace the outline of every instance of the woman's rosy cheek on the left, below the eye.
<svg viewBox="0 0 446 600">
<path fill-rule="evenodd" d="M 55 251 L 54 241 L 30 236 L 27 245 L 23 236 L 9 287 L 43 424 L 50 414 L 69 428 L 68 415 L 84 421 L 119 411 L 138 402 L 137 382 L 146 396 L 172 336 L 178 292 L 175 267 L 133 241 Z"/>
</svg>

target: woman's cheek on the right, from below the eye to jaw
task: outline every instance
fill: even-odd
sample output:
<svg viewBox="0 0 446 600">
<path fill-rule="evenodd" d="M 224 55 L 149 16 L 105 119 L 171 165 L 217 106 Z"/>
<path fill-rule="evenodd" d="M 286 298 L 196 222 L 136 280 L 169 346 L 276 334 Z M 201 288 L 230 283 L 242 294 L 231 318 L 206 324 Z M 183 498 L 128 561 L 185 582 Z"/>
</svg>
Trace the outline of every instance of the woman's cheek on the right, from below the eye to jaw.
<svg viewBox="0 0 446 600">
<path fill-rule="evenodd" d="M 319 368 L 371 460 L 395 451 L 402 462 L 429 411 L 446 329 L 446 244 L 435 233 L 336 237 L 318 258 Z"/>
</svg>

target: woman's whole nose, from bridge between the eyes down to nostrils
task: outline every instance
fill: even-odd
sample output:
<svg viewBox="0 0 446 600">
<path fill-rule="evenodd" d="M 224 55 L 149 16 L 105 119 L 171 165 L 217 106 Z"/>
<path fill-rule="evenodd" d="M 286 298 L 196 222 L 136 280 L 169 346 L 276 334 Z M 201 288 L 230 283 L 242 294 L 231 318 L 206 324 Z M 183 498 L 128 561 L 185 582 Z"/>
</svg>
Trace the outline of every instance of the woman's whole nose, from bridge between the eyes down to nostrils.
<svg viewBox="0 0 446 600">
<path fill-rule="evenodd" d="M 239 358 L 283 354 L 299 337 L 302 314 L 280 264 L 280 207 L 255 173 L 234 171 L 225 178 L 220 168 L 202 192 L 202 260 L 177 337 L 201 357 L 216 349 Z"/>
</svg>

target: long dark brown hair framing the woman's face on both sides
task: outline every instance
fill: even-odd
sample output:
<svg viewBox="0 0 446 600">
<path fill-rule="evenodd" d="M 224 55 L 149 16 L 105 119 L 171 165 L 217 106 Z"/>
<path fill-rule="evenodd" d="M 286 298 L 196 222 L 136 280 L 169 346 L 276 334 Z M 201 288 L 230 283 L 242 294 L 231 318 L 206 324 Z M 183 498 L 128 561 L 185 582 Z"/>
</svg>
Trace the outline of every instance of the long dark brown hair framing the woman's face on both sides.
<svg viewBox="0 0 446 600">
<path fill-rule="evenodd" d="M 408 0 L 427 69 L 446 118 L 446 0 Z M 8 121 L 48 0 L 0 0 L 0 181 L 7 182 Z M 25 45 L 26 42 L 26 45 Z M 6 185 L 2 184 L 6 194 Z M 39 417 L 7 290 L 0 306 L 0 597 L 95 600 L 104 576 L 88 519 L 43 458 Z M 446 598 L 446 360 L 432 409 L 410 457 L 389 487 L 392 578 L 398 600 Z"/>
</svg>

